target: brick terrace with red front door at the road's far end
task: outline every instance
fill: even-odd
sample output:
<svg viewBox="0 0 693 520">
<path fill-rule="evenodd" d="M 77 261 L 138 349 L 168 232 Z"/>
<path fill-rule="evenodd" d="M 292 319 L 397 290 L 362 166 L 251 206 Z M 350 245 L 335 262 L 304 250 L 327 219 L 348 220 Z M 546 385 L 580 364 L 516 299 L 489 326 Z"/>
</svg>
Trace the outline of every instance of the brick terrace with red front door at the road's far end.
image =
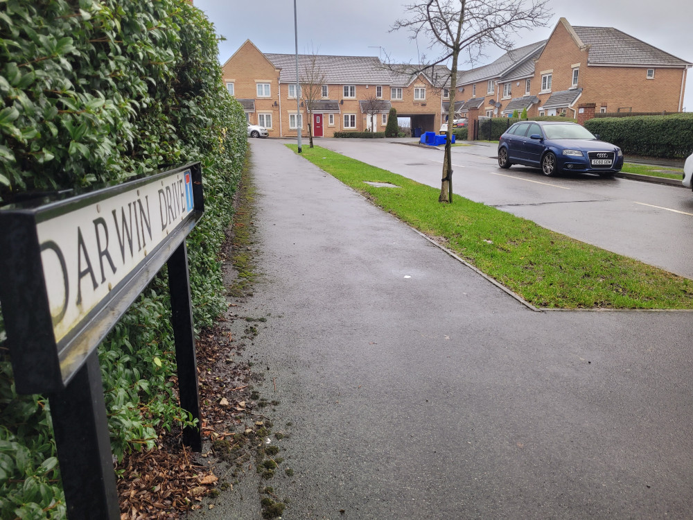
<svg viewBox="0 0 693 520">
<path fill-rule="evenodd" d="M 433 78 L 413 73 L 413 66 L 387 68 L 370 56 L 299 55 L 302 86 L 297 89 L 295 55 L 262 53 L 250 40 L 222 69 L 248 122 L 263 125 L 271 137 L 295 137 L 299 127 L 306 135 L 309 116 L 316 137 L 371 128 L 383 132 L 391 107 L 398 116 L 410 117 L 412 128 L 435 131 L 441 124 L 442 96 L 449 95 L 448 89 L 434 86 L 447 80 L 445 67 L 437 67 Z"/>
</svg>

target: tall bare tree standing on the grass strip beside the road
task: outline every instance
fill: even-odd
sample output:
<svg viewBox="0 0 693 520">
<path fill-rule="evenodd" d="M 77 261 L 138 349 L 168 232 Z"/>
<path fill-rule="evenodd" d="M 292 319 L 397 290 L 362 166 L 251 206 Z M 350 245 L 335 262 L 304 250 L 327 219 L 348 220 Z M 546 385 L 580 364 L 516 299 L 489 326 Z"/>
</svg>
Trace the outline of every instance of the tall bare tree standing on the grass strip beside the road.
<svg viewBox="0 0 693 520">
<path fill-rule="evenodd" d="M 440 49 L 435 58 L 421 59 L 421 69 L 435 69 L 435 65 L 452 60 L 450 67 L 450 107 L 448 131 L 443 159 L 443 178 L 439 202 L 453 202 L 453 169 L 450 158 L 452 121 L 455 121 L 455 91 L 457 90 L 457 62 L 464 51 L 470 60 L 480 55 L 487 46 L 505 51 L 513 48 L 513 37 L 518 31 L 534 26 L 545 26 L 550 12 L 548 0 L 422 0 L 405 6 L 407 17 L 398 19 L 393 31 L 406 29 L 412 40 L 419 36 L 430 41 L 430 49 Z"/>
</svg>

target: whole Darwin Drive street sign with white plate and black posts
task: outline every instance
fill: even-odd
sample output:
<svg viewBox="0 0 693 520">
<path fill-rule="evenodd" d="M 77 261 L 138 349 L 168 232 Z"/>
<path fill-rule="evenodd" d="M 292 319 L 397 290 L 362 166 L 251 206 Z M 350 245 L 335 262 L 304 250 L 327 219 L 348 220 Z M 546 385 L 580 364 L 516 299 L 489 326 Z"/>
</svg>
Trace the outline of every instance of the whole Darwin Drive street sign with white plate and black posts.
<svg viewBox="0 0 693 520">
<path fill-rule="evenodd" d="M 0 209 L 0 302 L 15 387 L 49 395 L 71 520 L 120 518 L 96 347 L 164 263 L 180 404 L 200 424 L 185 239 L 203 211 L 200 163 Z M 183 442 L 200 451 L 199 429 L 186 428 Z"/>
</svg>

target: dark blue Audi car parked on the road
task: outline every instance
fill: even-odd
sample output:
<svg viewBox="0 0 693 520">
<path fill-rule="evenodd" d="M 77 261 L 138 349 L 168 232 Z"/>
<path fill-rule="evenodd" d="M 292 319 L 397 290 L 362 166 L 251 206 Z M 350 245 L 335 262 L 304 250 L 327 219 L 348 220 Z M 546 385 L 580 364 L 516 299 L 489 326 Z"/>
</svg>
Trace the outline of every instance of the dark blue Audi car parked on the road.
<svg viewBox="0 0 693 520">
<path fill-rule="evenodd" d="M 541 168 L 549 176 L 579 171 L 611 177 L 623 167 L 623 153 L 577 123 L 520 121 L 498 141 L 498 166 L 513 164 Z"/>
</svg>

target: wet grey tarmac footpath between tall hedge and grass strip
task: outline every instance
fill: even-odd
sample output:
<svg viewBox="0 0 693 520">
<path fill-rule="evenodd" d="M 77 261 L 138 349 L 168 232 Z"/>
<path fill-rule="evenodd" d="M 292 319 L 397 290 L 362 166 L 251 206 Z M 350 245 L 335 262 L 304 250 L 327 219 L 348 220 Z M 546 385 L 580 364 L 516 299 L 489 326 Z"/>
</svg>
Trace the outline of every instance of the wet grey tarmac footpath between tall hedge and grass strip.
<svg viewBox="0 0 693 520">
<path fill-rule="evenodd" d="M 693 516 L 691 313 L 532 311 L 283 141 L 252 164 L 284 519 Z"/>
</svg>

